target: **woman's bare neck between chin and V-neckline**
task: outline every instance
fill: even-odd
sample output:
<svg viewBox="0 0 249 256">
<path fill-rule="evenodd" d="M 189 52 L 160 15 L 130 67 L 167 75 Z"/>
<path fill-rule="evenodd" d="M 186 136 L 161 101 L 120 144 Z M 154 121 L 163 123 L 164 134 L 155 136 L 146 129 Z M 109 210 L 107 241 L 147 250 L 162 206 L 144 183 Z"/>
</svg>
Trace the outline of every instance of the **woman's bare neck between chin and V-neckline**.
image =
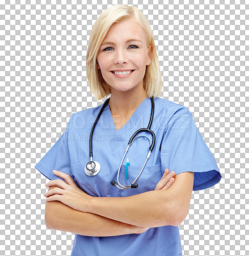
<svg viewBox="0 0 249 256">
<path fill-rule="evenodd" d="M 144 88 L 143 90 L 135 90 L 133 92 L 112 92 L 109 101 L 110 111 L 112 115 L 130 115 L 146 98 L 147 95 Z"/>
</svg>

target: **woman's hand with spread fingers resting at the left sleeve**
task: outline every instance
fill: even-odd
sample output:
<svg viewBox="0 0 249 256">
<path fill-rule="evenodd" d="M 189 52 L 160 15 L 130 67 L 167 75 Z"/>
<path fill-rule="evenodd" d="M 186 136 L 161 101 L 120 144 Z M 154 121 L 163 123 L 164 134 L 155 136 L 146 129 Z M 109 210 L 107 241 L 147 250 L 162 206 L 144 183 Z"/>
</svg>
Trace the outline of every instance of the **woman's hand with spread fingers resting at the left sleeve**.
<svg viewBox="0 0 249 256">
<path fill-rule="evenodd" d="M 64 172 L 53 171 L 54 175 L 61 177 L 63 180 L 50 180 L 45 186 L 57 186 L 43 194 L 47 202 L 60 201 L 61 203 L 72 207 L 77 211 L 87 212 L 92 196 L 87 195 L 80 189 L 70 175 Z"/>
</svg>

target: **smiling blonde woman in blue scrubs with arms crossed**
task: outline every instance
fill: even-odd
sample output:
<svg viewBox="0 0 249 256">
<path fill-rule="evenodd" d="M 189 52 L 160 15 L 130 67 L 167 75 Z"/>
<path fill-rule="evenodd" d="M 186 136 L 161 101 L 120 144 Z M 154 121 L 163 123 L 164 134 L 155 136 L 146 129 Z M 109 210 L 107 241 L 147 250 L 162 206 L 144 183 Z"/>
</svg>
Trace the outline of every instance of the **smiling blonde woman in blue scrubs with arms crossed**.
<svg viewBox="0 0 249 256">
<path fill-rule="evenodd" d="M 74 113 L 35 166 L 50 179 L 47 227 L 75 233 L 72 255 L 182 255 L 177 226 L 188 214 L 192 190 L 215 185 L 221 175 L 190 111 L 158 97 L 155 43 L 139 9 L 116 5 L 98 17 L 87 49 L 87 79 L 96 99 L 110 94 L 109 101 Z M 155 145 L 134 182 L 153 132 L 137 134 L 123 155 L 133 133 L 149 124 Z"/>
</svg>

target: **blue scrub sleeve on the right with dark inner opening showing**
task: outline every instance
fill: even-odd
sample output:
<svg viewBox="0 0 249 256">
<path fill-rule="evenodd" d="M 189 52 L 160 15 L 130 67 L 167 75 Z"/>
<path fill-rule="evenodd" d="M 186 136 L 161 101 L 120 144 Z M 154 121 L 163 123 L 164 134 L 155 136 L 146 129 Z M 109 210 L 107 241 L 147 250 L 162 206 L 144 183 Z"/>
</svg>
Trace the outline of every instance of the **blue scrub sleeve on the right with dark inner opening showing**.
<svg viewBox="0 0 249 256">
<path fill-rule="evenodd" d="M 193 190 L 210 188 L 220 181 L 222 175 L 192 114 L 187 112 L 173 116 L 167 124 L 160 152 L 162 170 L 168 168 L 176 175 L 194 172 Z"/>
</svg>

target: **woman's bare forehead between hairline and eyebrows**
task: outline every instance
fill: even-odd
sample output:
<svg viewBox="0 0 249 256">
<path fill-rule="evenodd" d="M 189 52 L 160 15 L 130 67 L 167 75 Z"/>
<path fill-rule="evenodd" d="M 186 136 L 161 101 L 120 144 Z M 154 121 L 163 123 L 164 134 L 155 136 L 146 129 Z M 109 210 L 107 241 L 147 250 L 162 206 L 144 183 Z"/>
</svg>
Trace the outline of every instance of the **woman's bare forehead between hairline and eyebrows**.
<svg viewBox="0 0 249 256">
<path fill-rule="evenodd" d="M 144 30 L 140 24 L 132 18 L 113 24 L 102 43 L 104 44 L 107 41 L 114 43 L 126 42 L 131 38 L 146 42 Z"/>
</svg>

